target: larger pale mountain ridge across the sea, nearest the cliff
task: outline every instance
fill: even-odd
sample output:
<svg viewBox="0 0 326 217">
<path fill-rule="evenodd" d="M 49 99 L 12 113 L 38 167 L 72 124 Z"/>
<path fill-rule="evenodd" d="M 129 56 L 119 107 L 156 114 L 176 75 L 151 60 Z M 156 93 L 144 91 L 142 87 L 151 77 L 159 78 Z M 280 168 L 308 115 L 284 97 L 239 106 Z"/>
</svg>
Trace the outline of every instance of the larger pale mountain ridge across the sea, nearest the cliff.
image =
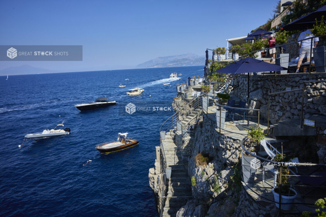
<svg viewBox="0 0 326 217">
<path fill-rule="evenodd" d="M 201 56 L 194 54 L 194 53 L 157 57 L 155 59 L 152 59 L 152 60 L 149 60 L 149 61 L 146 61 L 144 63 L 137 65 L 136 68 L 152 68 L 152 67 L 155 67 L 156 65 L 160 65 L 160 64 L 164 65 L 165 63 L 170 64 L 170 62 L 173 63 L 173 61 L 184 60 L 184 59 L 189 59 L 189 61 L 191 62 L 191 60 L 198 59 L 200 57 Z M 200 65 L 203 65 L 203 64 L 204 63 L 202 63 Z M 178 66 L 183 66 L 183 65 L 178 65 Z M 169 67 L 169 66 L 156 66 L 156 67 Z"/>
</svg>

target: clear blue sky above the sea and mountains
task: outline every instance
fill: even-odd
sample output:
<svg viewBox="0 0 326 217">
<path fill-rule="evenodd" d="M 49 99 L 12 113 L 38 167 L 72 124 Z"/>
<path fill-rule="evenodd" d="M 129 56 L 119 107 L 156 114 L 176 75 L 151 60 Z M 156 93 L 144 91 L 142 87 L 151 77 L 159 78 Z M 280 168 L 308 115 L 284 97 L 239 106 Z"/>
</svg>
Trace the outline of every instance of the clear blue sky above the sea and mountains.
<svg viewBox="0 0 326 217">
<path fill-rule="evenodd" d="M 1 61 L 60 71 L 135 68 L 159 56 L 205 55 L 271 17 L 277 0 L 0 0 L 1 45 L 82 45 L 82 62 Z"/>
</svg>

